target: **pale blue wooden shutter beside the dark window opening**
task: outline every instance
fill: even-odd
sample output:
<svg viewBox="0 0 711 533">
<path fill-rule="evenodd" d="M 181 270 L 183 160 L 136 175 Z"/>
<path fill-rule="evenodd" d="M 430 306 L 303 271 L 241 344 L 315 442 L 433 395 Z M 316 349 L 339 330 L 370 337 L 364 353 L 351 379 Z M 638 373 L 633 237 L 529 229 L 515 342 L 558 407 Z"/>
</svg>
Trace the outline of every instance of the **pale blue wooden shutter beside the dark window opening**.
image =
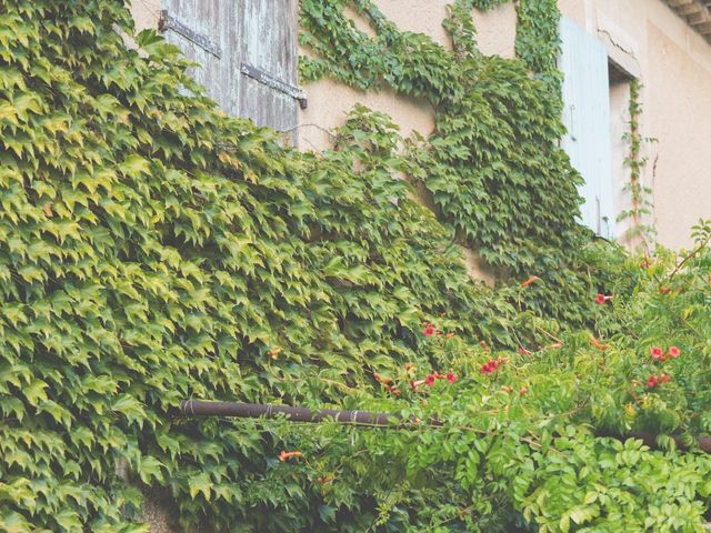
<svg viewBox="0 0 711 533">
<path fill-rule="evenodd" d="M 571 20 L 561 20 L 563 123 L 562 147 L 585 183 L 580 193 L 582 222 L 595 233 L 614 235 L 614 199 L 610 141 L 608 53 L 602 42 Z"/>
</svg>

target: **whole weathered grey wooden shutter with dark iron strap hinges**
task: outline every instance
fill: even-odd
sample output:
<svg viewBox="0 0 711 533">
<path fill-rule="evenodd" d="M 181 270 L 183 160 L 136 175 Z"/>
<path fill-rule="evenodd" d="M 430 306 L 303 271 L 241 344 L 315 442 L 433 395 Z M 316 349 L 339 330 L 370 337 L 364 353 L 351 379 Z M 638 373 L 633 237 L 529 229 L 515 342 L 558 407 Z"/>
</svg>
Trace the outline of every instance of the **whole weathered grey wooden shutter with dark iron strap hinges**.
<svg viewBox="0 0 711 533">
<path fill-rule="evenodd" d="M 160 29 L 200 63 L 191 76 L 229 114 L 292 130 L 306 94 L 297 87 L 298 0 L 162 0 Z"/>
</svg>

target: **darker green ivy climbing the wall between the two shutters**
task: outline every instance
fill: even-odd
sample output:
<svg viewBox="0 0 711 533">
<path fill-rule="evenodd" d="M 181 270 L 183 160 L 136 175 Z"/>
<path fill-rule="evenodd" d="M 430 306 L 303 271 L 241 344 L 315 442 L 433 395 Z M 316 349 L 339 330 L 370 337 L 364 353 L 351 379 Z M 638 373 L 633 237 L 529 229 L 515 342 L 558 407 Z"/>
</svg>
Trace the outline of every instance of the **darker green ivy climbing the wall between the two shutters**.
<svg viewBox="0 0 711 533">
<path fill-rule="evenodd" d="M 459 0 L 443 22 L 453 51 L 421 33 L 400 31 L 371 0 L 301 3 L 301 62 L 307 81 L 330 76 L 360 89 L 389 87 L 429 101 L 437 128 L 401 155 L 454 239 L 521 281 L 531 269 L 550 283 L 527 304 L 584 323 L 588 270 L 604 270 L 584 251 L 590 235 L 574 220 L 580 175 L 559 147 L 563 133 L 555 1 L 522 1 L 515 50 L 520 59 L 477 49 L 471 10 L 501 1 Z M 356 9 L 370 38 L 348 17 Z M 530 76 L 533 71 L 534 76 Z M 599 268 L 601 266 L 601 269 Z M 600 280 L 600 273 L 593 272 Z M 574 303 L 573 303 L 574 302 Z"/>
</svg>

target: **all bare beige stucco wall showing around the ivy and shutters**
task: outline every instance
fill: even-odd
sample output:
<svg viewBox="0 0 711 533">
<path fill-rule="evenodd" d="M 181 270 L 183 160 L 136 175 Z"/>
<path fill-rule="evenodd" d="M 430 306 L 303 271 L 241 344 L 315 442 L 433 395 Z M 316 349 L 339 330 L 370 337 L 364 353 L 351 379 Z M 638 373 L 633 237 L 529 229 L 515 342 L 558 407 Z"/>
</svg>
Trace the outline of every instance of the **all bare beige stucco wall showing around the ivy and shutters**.
<svg viewBox="0 0 711 533">
<path fill-rule="evenodd" d="M 441 22 L 451 0 L 377 0 L 381 11 L 400 29 L 422 32 L 449 47 Z M 645 145 L 650 163 L 644 183 L 653 185 L 653 220 L 661 243 L 680 248 L 690 243 L 691 225 L 711 218 L 711 172 L 704 165 L 711 133 L 711 44 L 679 18 L 662 0 L 559 0 L 574 20 L 607 47 L 614 62 L 638 77 L 642 91 L 642 134 L 659 142 Z M 134 0 L 137 28 L 154 28 L 160 0 Z M 368 33 L 364 20 L 349 14 Z M 515 8 L 504 3 L 488 13 L 474 11 L 479 47 L 485 54 L 513 57 Z M 390 90 L 358 91 L 332 80 L 306 86 L 309 107 L 299 112 L 299 145 L 322 150 L 329 131 L 340 125 L 356 103 L 388 113 L 404 137 L 428 135 L 434 110 L 423 100 Z M 617 208 L 627 209 L 622 192 L 627 172 L 621 165 L 624 145 L 620 132 L 628 120 L 625 89 L 611 91 L 613 164 Z M 621 227 L 619 230 L 622 230 Z"/>
</svg>

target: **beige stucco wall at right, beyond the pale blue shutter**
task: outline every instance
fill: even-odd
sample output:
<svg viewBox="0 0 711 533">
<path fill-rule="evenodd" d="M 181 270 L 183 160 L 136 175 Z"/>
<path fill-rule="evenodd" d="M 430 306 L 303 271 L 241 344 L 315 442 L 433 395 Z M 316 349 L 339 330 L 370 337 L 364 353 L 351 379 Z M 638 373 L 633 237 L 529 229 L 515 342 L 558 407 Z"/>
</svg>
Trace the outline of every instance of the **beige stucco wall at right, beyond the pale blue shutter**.
<svg viewBox="0 0 711 533">
<path fill-rule="evenodd" d="M 658 139 L 644 148 L 649 157 L 644 183 L 653 189 L 659 241 L 672 248 L 688 247 L 691 227 L 699 218 L 711 218 L 707 164 L 711 44 L 662 0 L 560 0 L 559 6 L 564 16 L 603 41 L 610 57 L 644 86 L 641 133 Z M 627 110 L 614 91 L 612 131 L 619 134 Z M 612 142 L 619 150 L 619 139 Z M 629 201 L 621 191 L 619 165 L 617 170 L 617 207 L 621 210 Z"/>
</svg>

